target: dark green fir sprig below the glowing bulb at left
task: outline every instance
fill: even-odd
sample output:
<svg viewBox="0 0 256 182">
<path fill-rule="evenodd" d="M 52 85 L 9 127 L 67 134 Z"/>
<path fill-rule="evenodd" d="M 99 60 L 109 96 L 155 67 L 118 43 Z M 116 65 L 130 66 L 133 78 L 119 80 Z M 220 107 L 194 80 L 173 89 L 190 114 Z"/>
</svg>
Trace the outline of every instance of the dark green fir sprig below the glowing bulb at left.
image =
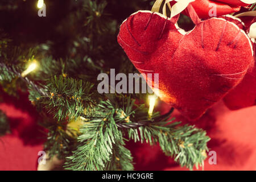
<svg viewBox="0 0 256 182">
<path fill-rule="evenodd" d="M 49 96 L 42 97 L 41 102 L 59 121 L 67 117 L 77 119 L 84 111 L 89 113 L 93 109 L 92 88 L 90 82 L 55 76 L 47 84 Z"/>
</svg>

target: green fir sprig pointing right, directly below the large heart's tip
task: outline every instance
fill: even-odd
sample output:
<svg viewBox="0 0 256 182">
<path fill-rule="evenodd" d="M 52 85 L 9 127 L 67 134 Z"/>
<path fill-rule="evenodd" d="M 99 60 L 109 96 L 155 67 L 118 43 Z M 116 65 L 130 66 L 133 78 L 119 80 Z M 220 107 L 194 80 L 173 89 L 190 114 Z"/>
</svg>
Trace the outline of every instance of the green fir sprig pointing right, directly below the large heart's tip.
<svg viewBox="0 0 256 182">
<path fill-rule="evenodd" d="M 138 129 L 129 129 L 129 138 L 135 142 L 159 143 L 163 152 L 175 159 L 181 167 L 192 169 L 203 164 L 207 158 L 206 151 L 209 137 L 205 131 L 194 126 L 178 126 L 180 122 L 168 125 L 168 122 L 157 122 Z"/>
</svg>

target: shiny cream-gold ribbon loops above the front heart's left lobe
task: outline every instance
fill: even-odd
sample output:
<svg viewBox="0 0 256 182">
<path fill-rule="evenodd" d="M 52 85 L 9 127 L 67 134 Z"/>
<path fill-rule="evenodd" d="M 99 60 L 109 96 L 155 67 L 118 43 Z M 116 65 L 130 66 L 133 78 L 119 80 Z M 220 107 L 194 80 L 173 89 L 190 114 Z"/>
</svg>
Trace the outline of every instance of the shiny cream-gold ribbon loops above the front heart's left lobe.
<svg viewBox="0 0 256 182">
<path fill-rule="evenodd" d="M 189 3 L 195 1 L 195 0 L 156 0 L 152 10 L 153 12 L 159 12 L 160 10 L 160 6 L 162 5 L 164 1 L 164 5 L 163 5 L 163 15 L 167 15 L 166 13 L 166 5 L 168 6 L 168 8 L 171 11 L 171 17 L 176 16 L 177 14 L 180 14 L 183 10 L 186 9 L 186 7 L 189 5 Z M 176 1 L 176 3 L 174 4 L 174 6 L 171 7 L 170 2 L 171 1 Z"/>
</svg>

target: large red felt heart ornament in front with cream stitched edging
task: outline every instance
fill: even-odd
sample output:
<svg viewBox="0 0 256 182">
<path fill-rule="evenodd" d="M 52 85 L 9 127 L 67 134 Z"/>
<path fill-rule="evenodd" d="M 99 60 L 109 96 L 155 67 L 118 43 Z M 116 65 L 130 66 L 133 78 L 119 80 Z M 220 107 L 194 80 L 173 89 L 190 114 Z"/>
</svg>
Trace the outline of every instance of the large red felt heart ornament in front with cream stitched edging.
<svg viewBox="0 0 256 182">
<path fill-rule="evenodd" d="M 159 73 L 159 97 L 185 117 L 197 119 L 237 86 L 253 61 L 250 40 L 222 18 L 201 21 L 183 34 L 177 17 L 138 11 L 121 25 L 118 43 L 139 72 Z M 154 79 L 151 82 L 154 90 Z"/>
</svg>

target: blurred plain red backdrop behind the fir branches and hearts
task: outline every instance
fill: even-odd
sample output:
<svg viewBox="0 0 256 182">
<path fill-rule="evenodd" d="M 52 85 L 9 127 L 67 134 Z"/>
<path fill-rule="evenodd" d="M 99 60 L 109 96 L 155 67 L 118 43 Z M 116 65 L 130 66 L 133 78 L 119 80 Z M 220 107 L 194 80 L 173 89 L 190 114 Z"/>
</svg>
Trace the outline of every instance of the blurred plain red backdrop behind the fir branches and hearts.
<svg viewBox="0 0 256 182">
<path fill-rule="evenodd" d="M 43 150 L 43 135 L 36 124 L 35 108 L 22 96 L 19 100 L 3 95 L 0 110 L 10 120 L 11 134 L 0 138 L 0 170 L 36 170 L 38 152 Z M 162 112 L 170 107 L 158 103 Z M 178 121 L 188 122 L 177 111 Z M 217 152 L 217 165 L 205 160 L 204 170 L 256 170 L 256 106 L 230 111 L 222 102 L 192 124 L 207 131 L 210 150 Z M 165 156 L 158 146 L 127 143 L 137 170 L 187 170 Z M 201 168 L 199 168 L 201 170 Z"/>
</svg>

